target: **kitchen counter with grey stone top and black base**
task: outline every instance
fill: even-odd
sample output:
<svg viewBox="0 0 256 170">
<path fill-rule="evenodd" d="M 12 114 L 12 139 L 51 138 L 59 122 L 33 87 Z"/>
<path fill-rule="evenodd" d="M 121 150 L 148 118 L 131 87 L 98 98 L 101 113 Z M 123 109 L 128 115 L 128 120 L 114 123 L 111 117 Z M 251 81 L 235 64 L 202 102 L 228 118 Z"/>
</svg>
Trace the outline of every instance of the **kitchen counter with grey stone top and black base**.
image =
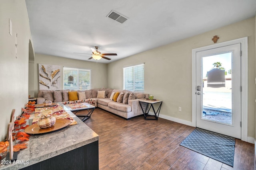
<svg viewBox="0 0 256 170">
<path fill-rule="evenodd" d="M 1 162 L 0 170 L 47 169 L 49 166 L 50 169 L 55 169 L 55 165 L 56 169 L 61 166 L 72 169 L 97 167 L 99 136 L 71 111 L 67 113 L 78 124 L 49 133 L 31 135 L 29 141 L 26 142 L 28 148 L 18 152 L 18 161 L 5 165 Z M 92 161 L 87 158 L 89 154 Z M 77 162 L 80 162 L 79 165 Z"/>
</svg>

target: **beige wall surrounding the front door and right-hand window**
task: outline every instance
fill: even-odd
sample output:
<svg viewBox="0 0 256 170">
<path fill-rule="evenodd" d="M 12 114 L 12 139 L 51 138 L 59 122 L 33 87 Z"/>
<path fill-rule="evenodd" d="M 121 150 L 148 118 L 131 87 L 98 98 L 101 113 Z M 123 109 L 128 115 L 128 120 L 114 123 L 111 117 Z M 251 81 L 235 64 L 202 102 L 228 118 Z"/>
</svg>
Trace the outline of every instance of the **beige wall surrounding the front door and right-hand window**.
<svg viewBox="0 0 256 170">
<path fill-rule="evenodd" d="M 255 18 L 108 64 L 108 86 L 122 89 L 122 68 L 145 63 L 145 93 L 163 100 L 160 114 L 192 121 L 192 49 L 248 37 L 248 136 L 255 138 Z M 182 107 L 182 111 L 178 111 Z"/>
</svg>

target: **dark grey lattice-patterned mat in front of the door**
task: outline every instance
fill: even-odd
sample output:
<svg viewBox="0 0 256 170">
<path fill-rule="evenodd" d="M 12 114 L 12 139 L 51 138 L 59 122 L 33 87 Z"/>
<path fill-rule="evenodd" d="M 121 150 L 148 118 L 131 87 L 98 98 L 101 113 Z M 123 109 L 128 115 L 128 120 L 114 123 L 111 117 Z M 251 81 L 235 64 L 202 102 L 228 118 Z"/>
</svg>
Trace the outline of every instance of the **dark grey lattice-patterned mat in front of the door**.
<svg viewBox="0 0 256 170">
<path fill-rule="evenodd" d="M 196 128 L 180 145 L 233 167 L 233 137 Z"/>
</svg>

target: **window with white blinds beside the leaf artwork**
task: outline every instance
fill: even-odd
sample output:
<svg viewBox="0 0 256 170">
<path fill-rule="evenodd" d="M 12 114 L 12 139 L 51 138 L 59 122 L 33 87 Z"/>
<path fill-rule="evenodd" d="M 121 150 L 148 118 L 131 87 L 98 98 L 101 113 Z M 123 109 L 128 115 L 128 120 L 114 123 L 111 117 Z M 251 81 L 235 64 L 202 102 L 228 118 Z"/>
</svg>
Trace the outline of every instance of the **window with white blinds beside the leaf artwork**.
<svg viewBox="0 0 256 170">
<path fill-rule="evenodd" d="M 91 89 L 91 70 L 78 68 L 63 68 L 63 89 Z"/>
</svg>

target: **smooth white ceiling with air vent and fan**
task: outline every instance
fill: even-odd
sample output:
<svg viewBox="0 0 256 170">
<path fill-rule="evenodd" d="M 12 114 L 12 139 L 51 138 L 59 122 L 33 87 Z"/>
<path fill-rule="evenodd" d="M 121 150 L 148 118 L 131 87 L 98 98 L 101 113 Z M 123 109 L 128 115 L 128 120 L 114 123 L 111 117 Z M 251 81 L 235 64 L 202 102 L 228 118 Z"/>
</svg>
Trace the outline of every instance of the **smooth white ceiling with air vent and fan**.
<svg viewBox="0 0 256 170">
<path fill-rule="evenodd" d="M 35 53 L 110 63 L 256 14 L 256 0 L 26 0 Z M 126 16 L 119 23 L 111 10 Z M 94 59 L 90 60 L 95 62 Z"/>
</svg>

